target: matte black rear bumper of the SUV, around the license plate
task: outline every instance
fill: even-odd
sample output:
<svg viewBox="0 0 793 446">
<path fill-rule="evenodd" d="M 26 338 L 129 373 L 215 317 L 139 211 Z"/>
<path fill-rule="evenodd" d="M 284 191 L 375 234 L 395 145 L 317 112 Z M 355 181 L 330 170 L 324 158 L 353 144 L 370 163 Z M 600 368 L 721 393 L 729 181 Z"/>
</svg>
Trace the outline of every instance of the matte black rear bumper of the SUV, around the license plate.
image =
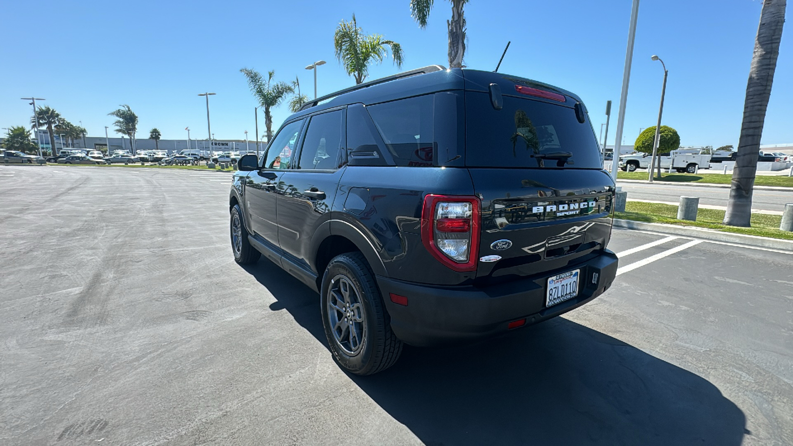
<svg viewBox="0 0 793 446">
<path fill-rule="evenodd" d="M 377 276 L 377 284 L 397 337 L 407 344 L 428 346 L 506 333 L 509 322 L 524 317 L 526 325 L 557 317 L 603 294 L 614 282 L 617 264 L 615 253 L 604 250 L 584 263 L 494 286 L 429 286 L 382 276 Z M 578 268 L 582 281 L 578 296 L 546 307 L 548 277 Z M 408 306 L 392 302 L 389 293 L 407 297 Z"/>
</svg>

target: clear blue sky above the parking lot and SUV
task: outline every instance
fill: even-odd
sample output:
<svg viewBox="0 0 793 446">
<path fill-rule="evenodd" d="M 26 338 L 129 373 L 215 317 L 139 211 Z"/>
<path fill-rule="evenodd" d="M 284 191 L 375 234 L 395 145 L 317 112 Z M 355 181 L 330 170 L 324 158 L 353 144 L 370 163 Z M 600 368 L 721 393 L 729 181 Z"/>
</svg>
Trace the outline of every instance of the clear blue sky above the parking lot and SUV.
<svg viewBox="0 0 793 446">
<path fill-rule="evenodd" d="M 669 70 L 664 125 L 684 145 L 734 144 L 760 18 L 759 0 L 643 0 L 639 10 L 625 144 L 640 127 L 655 125 L 661 95 L 661 63 Z M 319 68 L 319 94 L 348 87 L 333 53 L 333 32 L 355 13 L 367 33 L 381 33 L 404 48 L 403 70 L 447 65 L 449 2 L 437 0 L 427 29 L 410 17 L 408 0 L 389 2 L 6 2 L 0 46 L 0 127 L 29 122 L 31 107 L 19 98 L 36 95 L 92 136 L 111 125 L 107 113 L 119 104 L 140 117 L 139 138 L 159 128 L 164 139 L 206 138 L 204 98 L 210 99 L 216 139 L 254 133 L 254 106 L 239 68 L 277 78 L 299 75 L 312 94 Z M 623 78 L 630 0 L 507 2 L 471 0 L 465 6 L 465 63 L 492 70 L 507 40 L 512 44 L 500 71 L 580 94 L 596 133 L 605 102 L 616 117 Z M 31 31 L 31 25 L 36 31 Z M 780 48 L 763 144 L 793 143 L 793 43 L 790 23 Z M 36 48 L 35 52 L 31 52 Z M 397 72 L 391 60 L 370 70 L 370 79 Z M 289 111 L 274 110 L 274 130 Z M 613 144 L 616 119 L 608 144 Z M 263 116 L 259 133 L 264 133 Z"/>
</svg>

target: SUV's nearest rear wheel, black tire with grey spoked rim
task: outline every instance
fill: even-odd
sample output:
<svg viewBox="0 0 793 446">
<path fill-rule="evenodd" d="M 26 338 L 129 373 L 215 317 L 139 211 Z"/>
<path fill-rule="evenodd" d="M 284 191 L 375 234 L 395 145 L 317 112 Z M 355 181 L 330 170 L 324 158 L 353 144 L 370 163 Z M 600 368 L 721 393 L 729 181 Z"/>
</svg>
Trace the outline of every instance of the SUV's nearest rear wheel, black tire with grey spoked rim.
<svg viewBox="0 0 793 446">
<path fill-rule="evenodd" d="M 360 252 L 340 254 L 328 263 L 320 310 L 331 354 L 344 370 L 372 375 L 399 359 L 402 341 L 391 330 L 380 290 Z"/>
</svg>

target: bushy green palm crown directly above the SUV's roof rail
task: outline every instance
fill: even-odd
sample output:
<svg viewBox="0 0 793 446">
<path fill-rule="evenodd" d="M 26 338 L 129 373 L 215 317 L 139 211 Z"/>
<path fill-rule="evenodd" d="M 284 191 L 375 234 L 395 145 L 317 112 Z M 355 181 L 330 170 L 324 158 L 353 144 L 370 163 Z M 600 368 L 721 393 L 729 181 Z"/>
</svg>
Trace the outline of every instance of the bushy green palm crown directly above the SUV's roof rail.
<svg viewBox="0 0 793 446">
<path fill-rule="evenodd" d="M 388 54 L 386 45 L 391 47 L 391 55 L 397 68 L 401 68 L 402 46 L 393 40 L 385 40 L 380 34 L 364 34 L 358 28 L 355 14 L 352 14 L 352 21 L 340 21 L 333 36 L 336 59 L 342 63 L 348 75 L 354 76 L 356 85 L 369 75 L 369 66 L 372 63 L 383 61 Z"/>
</svg>

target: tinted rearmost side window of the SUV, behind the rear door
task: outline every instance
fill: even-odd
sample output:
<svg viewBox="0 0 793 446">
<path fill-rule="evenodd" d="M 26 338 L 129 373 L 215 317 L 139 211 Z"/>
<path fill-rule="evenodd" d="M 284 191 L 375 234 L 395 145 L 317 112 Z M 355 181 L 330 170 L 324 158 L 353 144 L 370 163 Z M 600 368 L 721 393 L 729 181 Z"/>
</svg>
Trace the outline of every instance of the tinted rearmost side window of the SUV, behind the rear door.
<svg viewBox="0 0 793 446">
<path fill-rule="evenodd" d="M 432 166 L 431 94 L 366 107 L 397 166 Z"/>
</svg>

